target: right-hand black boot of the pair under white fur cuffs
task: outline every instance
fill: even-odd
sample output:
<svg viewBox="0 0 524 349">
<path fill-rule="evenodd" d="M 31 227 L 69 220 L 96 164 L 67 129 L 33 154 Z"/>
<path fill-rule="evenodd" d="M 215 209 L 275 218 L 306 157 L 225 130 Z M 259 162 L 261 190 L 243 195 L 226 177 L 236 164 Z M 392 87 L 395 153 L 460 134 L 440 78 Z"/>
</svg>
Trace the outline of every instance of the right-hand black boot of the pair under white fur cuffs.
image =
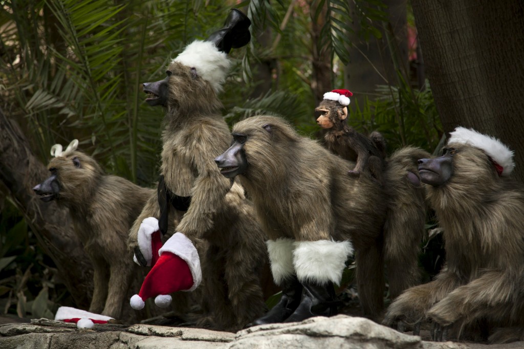
<svg viewBox="0 0 524 349">
<path fill-rule="evenodd" d="M 314 282 L 303 282 L 302 300 L 289 318 L 284 322 L 298 322 L 312 317 L 331 317 L 337 314 L 335 288 L 333 282 L 318 285 Z"/>
</svg>

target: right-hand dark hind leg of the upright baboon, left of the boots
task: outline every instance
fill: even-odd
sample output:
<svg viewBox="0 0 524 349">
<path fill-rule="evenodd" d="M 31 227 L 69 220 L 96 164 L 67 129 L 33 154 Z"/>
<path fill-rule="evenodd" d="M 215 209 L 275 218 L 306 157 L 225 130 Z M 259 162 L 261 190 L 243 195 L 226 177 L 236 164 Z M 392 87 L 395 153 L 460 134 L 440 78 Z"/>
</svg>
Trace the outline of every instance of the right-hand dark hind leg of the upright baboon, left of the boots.
<svg viewBox="0 0 524 349">
<path fill-rule="evenodd" d="M 225 266 L 228 296 L 239 329 L 260 317 L 265 309 L 257 260 L 245 256 L 241 248 L 231 249 Z"/>
</svg>

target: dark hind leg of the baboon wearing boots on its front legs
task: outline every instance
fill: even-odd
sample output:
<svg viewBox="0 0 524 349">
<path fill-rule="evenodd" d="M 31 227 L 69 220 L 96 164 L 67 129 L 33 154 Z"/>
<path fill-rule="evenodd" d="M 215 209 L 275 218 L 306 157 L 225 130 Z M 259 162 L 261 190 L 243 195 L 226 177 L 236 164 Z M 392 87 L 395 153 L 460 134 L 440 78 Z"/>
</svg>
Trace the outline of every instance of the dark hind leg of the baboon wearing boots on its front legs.
<svg viewBox="0 0 524 349">
<path fill-rule="evenodd" d="M 358 298 L 364 316 L 377 319 L 384 308 L 384 261 L 379 242 L 355 253 Z"/>
</svg>

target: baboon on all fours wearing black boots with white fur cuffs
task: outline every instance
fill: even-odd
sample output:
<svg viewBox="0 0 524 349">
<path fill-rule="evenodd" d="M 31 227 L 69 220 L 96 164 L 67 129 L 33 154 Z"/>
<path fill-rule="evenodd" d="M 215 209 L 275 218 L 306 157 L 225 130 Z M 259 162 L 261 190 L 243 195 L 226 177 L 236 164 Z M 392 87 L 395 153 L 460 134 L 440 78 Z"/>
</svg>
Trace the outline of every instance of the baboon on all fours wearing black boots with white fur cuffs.
<svg viewBox="0 0 524 349">
<path fill-rule="evenodd" d="M 233 145 L 215 162 L 226 178 L 237 177 L 252 198 L 269 238 L 273 277 L 283 293 L 280 302 L 252 324 L 334 314 L 333 283 L 340 282 L 353 248 L 363 312 L 376 319 L 383 309 L 388 209 L 380 184 L 369 176 L 347 176 L 354 162 L 298 136 L 279 117 L 247 118 L 234 125 L 232 135 Z M 388 228 L 403 229 L 397 223 Z M 402 246 L 390 249 L 405 253 Z"/>
</svg>

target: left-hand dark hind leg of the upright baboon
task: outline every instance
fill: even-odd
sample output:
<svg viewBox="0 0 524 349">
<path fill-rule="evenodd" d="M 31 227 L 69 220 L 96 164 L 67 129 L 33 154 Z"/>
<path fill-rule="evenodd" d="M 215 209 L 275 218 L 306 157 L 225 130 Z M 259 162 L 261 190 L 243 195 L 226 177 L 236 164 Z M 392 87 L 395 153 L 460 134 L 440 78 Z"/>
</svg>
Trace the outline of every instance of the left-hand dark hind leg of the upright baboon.
<svg viewBox="0 0 524 349">
<path fill-rule="evenodd" d="M 234 323 L 231 307 L 228 306 L 227 286 L 223 279 L 224 265 L 220 248 L 210 244 L 202 265 L 204 318 L 198 321 L 200 326 L 225 329 Z"/>
</svg>

